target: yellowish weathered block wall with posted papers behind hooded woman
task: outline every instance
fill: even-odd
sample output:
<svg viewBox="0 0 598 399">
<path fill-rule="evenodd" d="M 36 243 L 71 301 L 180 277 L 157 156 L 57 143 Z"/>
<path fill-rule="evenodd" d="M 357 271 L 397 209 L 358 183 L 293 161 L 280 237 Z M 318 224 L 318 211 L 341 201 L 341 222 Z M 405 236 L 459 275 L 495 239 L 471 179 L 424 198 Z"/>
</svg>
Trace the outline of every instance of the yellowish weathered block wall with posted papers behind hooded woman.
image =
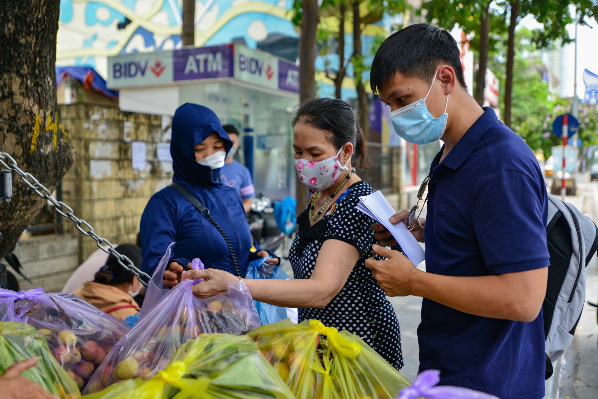
<svg viewBox="0 0 598 399">
<path fill-rule="evenodd" d="M 112 243 L 135 242 L 149 197 L 172 179 L 172 163 L 158 162 L 158 142 L 170 141 L 159 115 L 122 112 L 117 107 L 77 103 L 60 106 L 62 126 L 77 157 L 62 181 L 63 201 Z M 147 162 L 133 169 L 133 141 L 146 142 Z M 65 233 L 78 240 L 78 261 L 97 249 L 69 220 Z"/>
</svg>

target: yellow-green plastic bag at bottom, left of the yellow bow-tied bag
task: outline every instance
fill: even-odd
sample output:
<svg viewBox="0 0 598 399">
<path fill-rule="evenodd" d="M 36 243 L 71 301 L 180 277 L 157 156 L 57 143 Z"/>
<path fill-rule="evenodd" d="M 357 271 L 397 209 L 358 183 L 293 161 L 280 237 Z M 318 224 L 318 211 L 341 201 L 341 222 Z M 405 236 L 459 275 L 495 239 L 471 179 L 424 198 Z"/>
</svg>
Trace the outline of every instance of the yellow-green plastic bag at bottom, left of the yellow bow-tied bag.
<svg viewBox="0 0 598 399">
<path fill-rule="evenodd" d="M 84 399 L 294 399 L 248 336 L 200 334 L 151 379 L 125 380 Z M 82 399 L 83 399 L 82 398 Z"/>
</svg>

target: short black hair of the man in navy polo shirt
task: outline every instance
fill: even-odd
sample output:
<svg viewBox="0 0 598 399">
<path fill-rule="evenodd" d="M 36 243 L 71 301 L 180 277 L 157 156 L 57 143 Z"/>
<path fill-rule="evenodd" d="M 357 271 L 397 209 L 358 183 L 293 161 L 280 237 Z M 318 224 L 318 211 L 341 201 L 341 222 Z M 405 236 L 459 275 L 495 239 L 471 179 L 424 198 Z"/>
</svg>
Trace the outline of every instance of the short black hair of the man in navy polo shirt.
<svg viewBox="0 0 598 399">
<path fill-rule="evenodd" d="M 467 90 L 461 53 L 453 36 L 429 23 L 416 23 L 388 36 L 374 56 L 370 72 L 372 92 L 382 90 L 396 72 L 432 83 L 440 64 L 449 65 Z"/>
</svg>

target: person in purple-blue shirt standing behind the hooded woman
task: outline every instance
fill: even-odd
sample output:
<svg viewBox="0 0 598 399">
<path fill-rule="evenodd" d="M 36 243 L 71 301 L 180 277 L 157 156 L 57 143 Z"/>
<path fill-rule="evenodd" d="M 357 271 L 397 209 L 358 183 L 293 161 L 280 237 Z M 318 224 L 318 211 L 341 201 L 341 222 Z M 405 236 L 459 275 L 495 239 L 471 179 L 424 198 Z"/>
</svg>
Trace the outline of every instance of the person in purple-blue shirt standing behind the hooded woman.
<svg viewBox="0 0 598 399">
<path fill-rule="evenodd" d="M 220 169 L 220 181 L 237 191 L 243 199 L 245 212 L 249 212 L 251 199 L 255 197 L 255 187 L 249 169 L 234 160 L 234 154 L 239 150 L 239 131 L 231 124 L 225 124 L 222 128 L 228 133 L 228 138 L 233 142 L 233 147 L 228 151 L 226 162 Z"/>
</svg>

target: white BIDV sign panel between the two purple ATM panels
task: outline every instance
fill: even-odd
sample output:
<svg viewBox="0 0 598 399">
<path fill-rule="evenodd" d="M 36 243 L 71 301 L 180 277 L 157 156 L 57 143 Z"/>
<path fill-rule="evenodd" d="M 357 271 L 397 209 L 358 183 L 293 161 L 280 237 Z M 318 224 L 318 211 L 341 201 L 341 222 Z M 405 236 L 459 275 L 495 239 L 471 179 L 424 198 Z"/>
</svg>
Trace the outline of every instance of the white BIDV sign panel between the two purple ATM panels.
<svg viewBox="0 0 598 399">
<path fill-rule="evenodd" d="M 234 77 L 259 86 L 278 89 L 278 59 L 261 51 L 235 45 Z"/>
</svg>

